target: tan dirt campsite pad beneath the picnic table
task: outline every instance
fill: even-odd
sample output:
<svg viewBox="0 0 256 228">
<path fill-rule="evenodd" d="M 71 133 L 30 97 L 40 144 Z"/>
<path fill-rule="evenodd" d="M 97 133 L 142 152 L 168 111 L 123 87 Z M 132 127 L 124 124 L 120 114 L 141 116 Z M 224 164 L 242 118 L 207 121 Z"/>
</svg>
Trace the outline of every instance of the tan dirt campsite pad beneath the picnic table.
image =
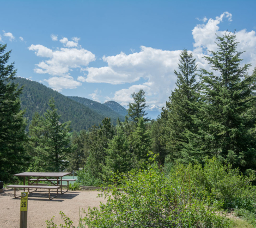
<svg viewBox="0 0 256 228">
<path fill-rule="evenodd" d="M 23 190 L 16 192 L 20 195 Z M 27 191 L 26 191 L 27 192 Z M 51 191 L 51 195 L 55 192 Z M 79 210 L 82 218 L 84 213 L 82 209 L 88 210 L 88 207 L 99 207 L 100 201 L 106 202 L 104 198 L 97 198 L 97 191 L 69 191 L 65 194 L 58 194 L 53 200 L 48 199 L 48 192 L 38 189 L 37 192 L 28 195 L 28 228 L 46 227 L 46 220 L 50 220 L 53 215 L 54 222 L 63 224 L 59 212 L 64 212 L 73 222 L 78 225 Z M 19 228 L 20 227 L 20 198 L 14 198 L 13 189 L 4 189 L 0 194 L 0 227 L 1 228 Z"/>
</svg>

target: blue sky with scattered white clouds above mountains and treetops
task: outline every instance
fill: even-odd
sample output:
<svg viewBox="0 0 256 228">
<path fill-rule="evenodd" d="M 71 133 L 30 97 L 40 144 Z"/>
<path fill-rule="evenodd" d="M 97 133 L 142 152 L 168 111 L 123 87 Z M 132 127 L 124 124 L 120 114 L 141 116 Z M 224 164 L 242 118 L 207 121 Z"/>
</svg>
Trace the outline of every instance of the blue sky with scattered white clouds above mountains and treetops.
<svg viewBox="0 0 256 228">
<path fill-rule="evenodd" d="M 243 64 L 256 64 L 256 1 L 1 1 L 0 44 L 17 76 L 99 102 L 131 102 L 144 89 L 162 107 L 180 51 L 198 68 L 215 34 L 237 32 Z"/>
</svg>

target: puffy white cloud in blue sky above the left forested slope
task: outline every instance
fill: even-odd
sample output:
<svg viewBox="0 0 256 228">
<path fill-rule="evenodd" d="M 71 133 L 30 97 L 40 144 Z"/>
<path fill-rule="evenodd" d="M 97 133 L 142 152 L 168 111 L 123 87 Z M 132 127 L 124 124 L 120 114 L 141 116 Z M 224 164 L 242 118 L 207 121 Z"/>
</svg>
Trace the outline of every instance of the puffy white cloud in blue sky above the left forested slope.
<svg viewBox="0 0 256 228">
<path fill-rule="evenodd" d="M 35 51 L 36 56 L 48 57 L 49 60 L 36 64 L 36 73 L 48 73 L 52 76 L 65 76 L 72 68 L 87 66 L 95 60 L 95 55 L 83 48 L 60 48 L 53 51 L 42 45 L 31 45 L 29 50 Z"/>
</svg>

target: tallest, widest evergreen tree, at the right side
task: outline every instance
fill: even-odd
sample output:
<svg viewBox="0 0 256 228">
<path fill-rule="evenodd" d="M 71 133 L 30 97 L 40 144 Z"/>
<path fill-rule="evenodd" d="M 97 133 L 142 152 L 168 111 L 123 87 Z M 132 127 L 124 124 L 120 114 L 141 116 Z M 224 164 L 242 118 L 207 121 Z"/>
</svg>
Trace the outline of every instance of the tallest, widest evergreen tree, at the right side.
<svg viewBox="0 0 256 228">
<path fill-rule="evenodd" d="M 256 168 L 256 144 L 251 112 L 256 74 L 249 76 L 249 64 L 242 65 L 235 34 L 217 36 L 218 51 L 205 57 L 213 70 L 201 70 L 202 90 L 199 132 L 188 132 L 186 155 L 216 156 L 242 170 Z M 202 161 L 202 158 L 198 158 Z"/>
</svg>

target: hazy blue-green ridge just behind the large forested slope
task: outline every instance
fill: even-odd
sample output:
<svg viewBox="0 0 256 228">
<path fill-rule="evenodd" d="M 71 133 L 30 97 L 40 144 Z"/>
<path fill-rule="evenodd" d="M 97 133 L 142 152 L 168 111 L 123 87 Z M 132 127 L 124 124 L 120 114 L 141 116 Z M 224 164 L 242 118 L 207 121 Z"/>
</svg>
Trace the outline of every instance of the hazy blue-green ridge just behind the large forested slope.
<svg viewBox="0 0 256 228">
<path fill-rule="evenodd" d="M 117 118 L 119 118 L 120 121 L 124 121 L 124 119 L 125 119 L 124 115 L 121 115 L 118 112 L 115 112 L 112 108 L 109 108 L 108 106 L 101 104 L 97 101 L 92 101 L 90 99 L 87 99 L 84 97 L 77 97 L 77 96 L 68 96 L 68 97 L 70 99 L 77 101 L 77 102 L 83 104 L 84 106 L 94 110 L 96 113 L 98 113 L 100 115 L 111 118 L 111 120 L 114 123 L 117 120 Z M 119 104 L 119 106 L 120 106 L 120 104 Z"/>
</svg>

